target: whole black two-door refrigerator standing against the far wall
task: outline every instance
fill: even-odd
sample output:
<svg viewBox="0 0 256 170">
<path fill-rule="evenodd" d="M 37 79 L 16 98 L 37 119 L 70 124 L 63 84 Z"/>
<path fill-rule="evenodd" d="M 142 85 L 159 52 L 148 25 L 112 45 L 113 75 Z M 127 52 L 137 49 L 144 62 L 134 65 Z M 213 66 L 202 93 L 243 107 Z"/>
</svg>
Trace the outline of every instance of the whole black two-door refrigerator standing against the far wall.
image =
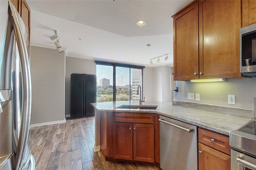
<svg viewBox="0 0 256 170">
<path fill-rule="evenodd" d="M 96 75 L 71 74 L 70 118 L 94 116 Z"/>
</svg>

